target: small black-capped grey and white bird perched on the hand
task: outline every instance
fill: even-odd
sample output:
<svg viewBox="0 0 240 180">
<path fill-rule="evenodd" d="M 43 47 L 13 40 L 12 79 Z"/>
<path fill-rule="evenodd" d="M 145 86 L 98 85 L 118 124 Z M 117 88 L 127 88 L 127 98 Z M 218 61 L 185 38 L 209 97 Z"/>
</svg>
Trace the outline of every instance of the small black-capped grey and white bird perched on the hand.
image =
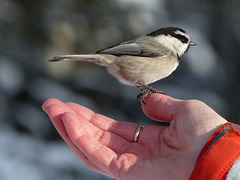
<svg viewBox="0 0 240 180">
<path fill-rule="evenodd" d="M 139 88 L 141 93 L 137 99 L 142 98 L 144 103 L 149 94 L 164 93 L 148 84 L 169 76 L 176 70 L 189 46 L 194 45 L 184 30 L 166 27 L 95 54 L 56 56 L 49 61 L 89 61 L 106 66 L 120 82 Z"/>
</svg>

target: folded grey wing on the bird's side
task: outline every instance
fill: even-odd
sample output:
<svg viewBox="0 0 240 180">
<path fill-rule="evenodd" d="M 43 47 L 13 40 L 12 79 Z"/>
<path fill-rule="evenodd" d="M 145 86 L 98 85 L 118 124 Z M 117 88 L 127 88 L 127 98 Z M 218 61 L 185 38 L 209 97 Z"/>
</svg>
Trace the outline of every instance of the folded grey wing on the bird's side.
<svg viewBox="0 0 240 180">
<path fill-rule="evenodd" d="M 158 47 L 156 47 L 158 45 Z M 142 57 L 156 57 L 166 55 L 166 51 L 159 51 L 159 44 L 138 43 L 135 41 L 127 41 L 124 43 L 110 46 L 96 52 L 97 54 L 112 54 L 116 56 L 131 55 Z"/>
</svg>

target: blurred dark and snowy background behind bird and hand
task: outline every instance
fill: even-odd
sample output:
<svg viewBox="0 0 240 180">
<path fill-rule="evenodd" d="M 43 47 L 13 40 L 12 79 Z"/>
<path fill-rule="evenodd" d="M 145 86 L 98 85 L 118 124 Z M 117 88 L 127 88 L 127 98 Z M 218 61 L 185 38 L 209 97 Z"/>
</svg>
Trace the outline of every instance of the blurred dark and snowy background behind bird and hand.
<svg viewBox="0 0 240 180">
<path fill-rule="evenodd" d="M 240 123 L 239 22 L 239 0 L 0 0 L 0 179 L 110 179 L 68 148 L 43 101 L 54 97 L 119 121 L 155 122 L 136 103 L 138 90 L 104 67 L 48 59 L 92 53 L 165 26 L 181 27 L 198 45 L 153 86 L 204 101 Z"/>
</svg>

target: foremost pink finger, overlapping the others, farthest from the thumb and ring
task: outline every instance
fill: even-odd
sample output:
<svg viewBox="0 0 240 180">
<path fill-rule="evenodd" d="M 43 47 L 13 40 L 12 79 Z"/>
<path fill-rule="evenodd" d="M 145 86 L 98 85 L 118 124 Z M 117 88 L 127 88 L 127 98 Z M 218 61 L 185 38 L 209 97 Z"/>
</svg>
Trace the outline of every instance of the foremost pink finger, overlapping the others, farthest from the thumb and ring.
<svg viewBox="0 0 240 180">
<path fill-rule="evenodd" d="M 75 114 L 65 113 L 62 116 L 62 120 L 69 137 L 91 164 L 100 168 L 101 172 L 104 171 L 105 174 L 109 174 L 108 169 L 112 160 L 116 158 L 116 153 L 89 135 L 83 127 L 84 125 L 81 125 L 84 120 L 78 118 Z M 87 163 L 86 165 L 89 164 L 89 161 L 85 162 Z"/>
</svg>

